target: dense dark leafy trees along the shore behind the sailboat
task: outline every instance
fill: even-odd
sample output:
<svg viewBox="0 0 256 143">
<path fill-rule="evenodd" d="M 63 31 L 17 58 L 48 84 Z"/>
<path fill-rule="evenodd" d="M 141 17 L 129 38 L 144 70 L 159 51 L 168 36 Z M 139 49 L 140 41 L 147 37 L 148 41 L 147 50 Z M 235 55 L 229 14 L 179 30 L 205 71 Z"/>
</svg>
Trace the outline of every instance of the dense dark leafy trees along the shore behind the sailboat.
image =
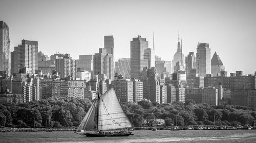
<svg viewBox="0 0 256 143">
<path fill-rule="evenodd" d="M 29 103 L 0 104 L 0 126 L 3 127 L 77 127 L 86 115 L 92 101 L 74 97 L 55 97 Z M 231 105 L 186 103 L 159 104 L 141 100 L 121 103 L 135 127 L 145 126 L 145 121 L 163 119 L 166 126 L 188 125 L 251 125 L 256 120 L 255 108 Z M 215 121 L 215 122 L 214 122 Z"/>
</svg>

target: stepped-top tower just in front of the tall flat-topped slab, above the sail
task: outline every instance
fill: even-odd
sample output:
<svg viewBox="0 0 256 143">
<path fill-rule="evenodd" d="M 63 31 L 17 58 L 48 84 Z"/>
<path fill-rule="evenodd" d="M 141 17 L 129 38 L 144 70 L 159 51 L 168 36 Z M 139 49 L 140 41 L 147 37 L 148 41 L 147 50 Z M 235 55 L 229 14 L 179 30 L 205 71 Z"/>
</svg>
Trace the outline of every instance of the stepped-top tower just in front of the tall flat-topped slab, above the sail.
<svg viewBox="0 0 256 143">
<path fill-rule="evenodd" d="M 106 79 L 114 79 L 114 56 L 106 53 L 106 48 L 99 48 L 99 53 L 93 58 L 94 75 L 105 74 Z"/>
</svg>

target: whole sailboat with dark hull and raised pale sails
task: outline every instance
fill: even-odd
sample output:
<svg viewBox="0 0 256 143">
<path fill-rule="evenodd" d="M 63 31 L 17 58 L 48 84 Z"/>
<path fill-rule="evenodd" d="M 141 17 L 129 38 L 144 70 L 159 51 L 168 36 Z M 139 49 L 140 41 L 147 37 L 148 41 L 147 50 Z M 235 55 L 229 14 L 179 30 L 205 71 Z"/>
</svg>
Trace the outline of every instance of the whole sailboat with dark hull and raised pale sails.
<svg viewBox="0 0 256 143">
<path fill-rule="evenodd" d="M 112 88 L 101 96 L 98 93 L 75 133 L 93 137 L 134 135 L 133 132 L 125 130 L 128 128 L 133 128 L 133 125 Z"/>
</svg>

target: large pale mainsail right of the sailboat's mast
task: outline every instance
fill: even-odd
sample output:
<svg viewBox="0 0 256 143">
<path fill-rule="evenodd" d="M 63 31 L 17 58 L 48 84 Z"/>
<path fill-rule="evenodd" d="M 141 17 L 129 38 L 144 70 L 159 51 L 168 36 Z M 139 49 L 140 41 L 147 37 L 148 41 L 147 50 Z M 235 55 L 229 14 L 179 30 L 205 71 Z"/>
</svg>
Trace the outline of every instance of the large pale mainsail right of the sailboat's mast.
<svg viewBox="0 0 256 143">
<path fill-rule="evenodd" d="M 98 130 L 118 130 L 133 127 L 117 99 L 116 93 L 112 88 L 100 96 Z"/>
</svg>

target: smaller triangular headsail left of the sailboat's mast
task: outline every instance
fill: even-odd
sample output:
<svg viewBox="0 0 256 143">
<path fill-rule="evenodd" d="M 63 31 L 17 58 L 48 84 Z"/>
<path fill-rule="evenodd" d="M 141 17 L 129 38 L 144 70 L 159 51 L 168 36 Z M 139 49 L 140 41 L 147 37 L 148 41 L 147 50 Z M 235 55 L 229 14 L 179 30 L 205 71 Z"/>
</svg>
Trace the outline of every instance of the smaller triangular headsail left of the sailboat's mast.
<svg viewBox="0 0 256 143">
<path fill-rule="evenodd" d="M 77 131 L 81 130 L 94 130 L 94 118 L 95 118 L 95 109 L 97 102 L 94 101 L 90 109 L 88 110 L 86 116 L 83 118 L 81 124 L 77 128 Z"/>
</svg>

